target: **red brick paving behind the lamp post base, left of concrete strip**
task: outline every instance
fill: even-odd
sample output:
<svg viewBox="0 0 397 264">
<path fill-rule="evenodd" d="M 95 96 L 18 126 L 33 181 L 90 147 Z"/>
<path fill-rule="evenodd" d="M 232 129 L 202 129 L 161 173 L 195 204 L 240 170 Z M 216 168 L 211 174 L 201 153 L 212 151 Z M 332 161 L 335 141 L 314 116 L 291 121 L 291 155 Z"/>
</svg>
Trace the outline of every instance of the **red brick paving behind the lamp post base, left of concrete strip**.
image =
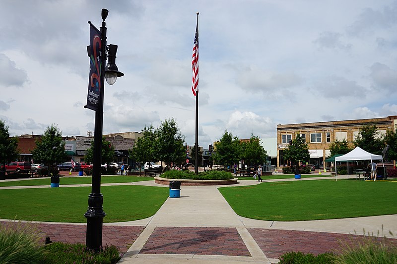
<svg viewBox="0 0 397 264">
<path fill-rule="evenodd" d="M 8 223 L 0 222 L 0 224 Z M 31 223 L 31 225 L 43 233 L 43 244 L 45 237 L 50 237 L 52 242 L 85 244 L 86 225 L 46 223 Z M 126 253 L 143 229 L 143 226 L 104 225 L 102 246 L 114 245 L 119 248 L 121 253 Z"/>
</svg>

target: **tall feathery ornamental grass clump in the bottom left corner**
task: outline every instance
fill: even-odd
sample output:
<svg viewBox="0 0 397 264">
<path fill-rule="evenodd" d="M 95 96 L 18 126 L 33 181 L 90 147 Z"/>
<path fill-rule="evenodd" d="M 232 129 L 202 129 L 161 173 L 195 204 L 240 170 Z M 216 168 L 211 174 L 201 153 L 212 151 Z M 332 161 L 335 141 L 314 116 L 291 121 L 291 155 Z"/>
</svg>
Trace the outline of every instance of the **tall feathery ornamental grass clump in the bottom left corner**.
<svg viewBox="0 0 397 264">
<path fill-rule="evenodd" d="M 10 221 L 0 225 L 0 263 L 43 263 L 40 233 L 31 224 Z"/>
</svg>

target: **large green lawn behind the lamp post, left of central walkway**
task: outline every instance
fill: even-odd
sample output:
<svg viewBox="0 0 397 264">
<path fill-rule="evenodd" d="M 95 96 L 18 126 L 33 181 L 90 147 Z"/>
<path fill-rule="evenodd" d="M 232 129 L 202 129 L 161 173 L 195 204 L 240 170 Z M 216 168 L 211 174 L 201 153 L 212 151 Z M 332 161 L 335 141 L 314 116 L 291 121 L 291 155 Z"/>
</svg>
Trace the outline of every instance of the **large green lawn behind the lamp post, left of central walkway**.
<svg viewBox="0 0 397 264">
<path fill-rule="evenodd" d="M 0 218 L 83 223 L 90 192 L 90 187 L 0 190 Z M 149 217 L 169 195 L 168 188 L 148 186 L 102 186 L 101 192 L 108 223 Z"/>
</svg>

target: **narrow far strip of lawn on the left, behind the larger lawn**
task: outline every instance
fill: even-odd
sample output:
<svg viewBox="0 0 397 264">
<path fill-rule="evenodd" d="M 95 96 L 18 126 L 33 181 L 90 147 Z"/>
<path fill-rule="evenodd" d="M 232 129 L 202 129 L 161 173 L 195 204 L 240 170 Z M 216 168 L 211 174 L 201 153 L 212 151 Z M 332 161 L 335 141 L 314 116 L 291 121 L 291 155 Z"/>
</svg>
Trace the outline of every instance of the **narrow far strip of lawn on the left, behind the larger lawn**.
<svg viewBox="0 0 397 264">
<path fill-rule="evenodd" d="M 136 181 L 151 181 L 153 177 L 138 177 L 138 176 L 102 176 L 101 183 L 123 183 Z M 92 177 L 60 177 L 60 185 L 65 184 L 91 184 Z M 38 179 L 26 179 L 20 181 L 0 181 L 0 187 L 5 186 L 36 186 L 36 185 L 50 185 L 50 177 Z"/>
</svg>

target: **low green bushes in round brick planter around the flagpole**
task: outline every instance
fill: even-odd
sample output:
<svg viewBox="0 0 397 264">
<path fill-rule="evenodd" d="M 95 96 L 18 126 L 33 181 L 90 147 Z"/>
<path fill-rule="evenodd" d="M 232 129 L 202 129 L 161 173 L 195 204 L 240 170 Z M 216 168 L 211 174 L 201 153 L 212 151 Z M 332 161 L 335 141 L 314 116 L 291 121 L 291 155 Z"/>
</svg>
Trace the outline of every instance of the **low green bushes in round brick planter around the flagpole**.
<svg viewBox="0 0 397 264">
<path fill-rule="evenodd" d="M 166 179 L 190 179 L 190 180 L 231 180 L 233 179 L 232 173 L 222 170 L 209 170 L 199 172 L 198 175 L 191 171 L 185 170 L 167 170 L 161 177 Z"/>
</svg>

